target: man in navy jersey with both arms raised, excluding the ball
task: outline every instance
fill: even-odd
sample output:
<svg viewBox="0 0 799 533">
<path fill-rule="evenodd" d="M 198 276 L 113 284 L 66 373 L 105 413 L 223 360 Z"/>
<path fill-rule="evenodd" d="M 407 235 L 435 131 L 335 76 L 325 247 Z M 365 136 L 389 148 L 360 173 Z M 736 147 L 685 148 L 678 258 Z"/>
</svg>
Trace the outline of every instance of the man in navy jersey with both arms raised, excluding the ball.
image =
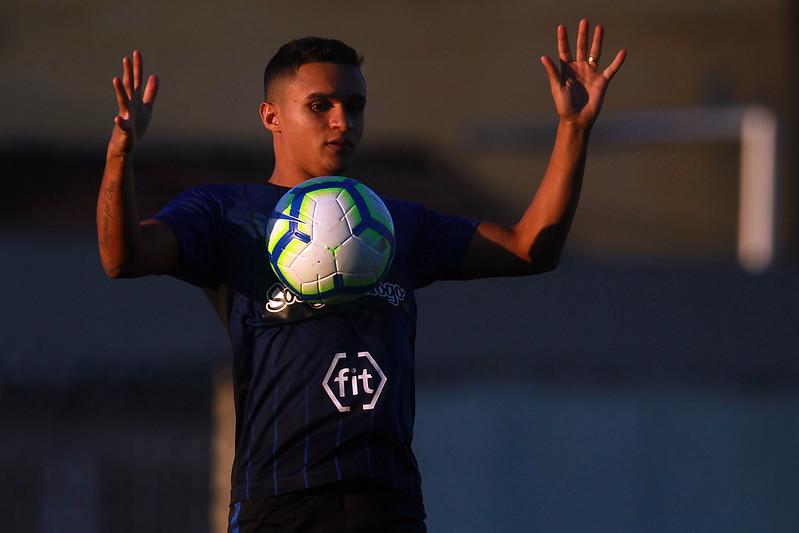
<svg viewBox="0 0 799 533">
<path fill-rule="evenodd" d="M 236 403 L 231 531 L 425 531 L 410 447 L 413 289 L 557 266 L 591 127 L 625 58 L 621 51 L 600 70 L 603 30 L 589 43 L 586 20 L 574 56 L 563 26 L 557 39 L 560 66 L 541 61 L 560 124 L 520 221 L 478 222 L 387 199 L 396 228 L 391 269 L 378 289 L 340 306 L 310 305 L 280 286 L 267 265 L 264 231 L 289 187 L 350 166 L 366 105 L 358 54 L 326 39 L 283 46 L 267 66 L 260 106 L 275 153 L 268 183 L 198 187 L 143 222 L 132 154 L 158 78 L 143 85 L 138 52 L 123 60 L 97 205 L 101 259 L 111 277 L 170 274 L 203 288 L 228 329 Z"/>
</svg>

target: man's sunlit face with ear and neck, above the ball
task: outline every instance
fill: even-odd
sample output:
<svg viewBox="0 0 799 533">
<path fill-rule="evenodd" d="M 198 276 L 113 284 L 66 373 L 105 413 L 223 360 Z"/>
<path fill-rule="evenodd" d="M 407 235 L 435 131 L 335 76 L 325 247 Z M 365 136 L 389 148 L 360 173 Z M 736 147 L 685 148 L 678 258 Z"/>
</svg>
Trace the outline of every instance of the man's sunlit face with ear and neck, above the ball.
<svg viewBox="0 0 799 533">
<path fill-rule="evenodd" d="M 361 141 L 366 83 L 350 65 L 308 63 L 270 90 L 261 118 L 275 147 L 273 183 L 342 175 Z M 274 95 L 274 96 L 273 96 Z"/>
</svg>

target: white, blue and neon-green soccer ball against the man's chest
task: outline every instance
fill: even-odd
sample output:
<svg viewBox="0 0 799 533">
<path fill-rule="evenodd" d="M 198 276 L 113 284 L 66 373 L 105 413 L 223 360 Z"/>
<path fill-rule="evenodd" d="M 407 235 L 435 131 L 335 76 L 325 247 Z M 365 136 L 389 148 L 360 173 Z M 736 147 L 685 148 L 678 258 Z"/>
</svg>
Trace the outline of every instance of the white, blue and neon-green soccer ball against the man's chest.
<svg viewBox="0 0 799 533">
<path fill-rule="evenodd" d="M 266 232 L 269 263 L 290 291 L 311 302 L 344 303 L 374 288 L 394 257 L 394 222 L 362 183 L 307 180 L 277 202 Z"/>
</svg>

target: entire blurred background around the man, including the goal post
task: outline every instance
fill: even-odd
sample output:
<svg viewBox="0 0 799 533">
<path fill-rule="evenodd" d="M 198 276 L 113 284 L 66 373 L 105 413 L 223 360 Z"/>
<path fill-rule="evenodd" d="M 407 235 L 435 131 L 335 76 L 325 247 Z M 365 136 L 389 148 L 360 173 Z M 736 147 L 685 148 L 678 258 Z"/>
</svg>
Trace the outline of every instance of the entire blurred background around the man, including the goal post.
<svg viewBox="0 0 799 533">
<path fill-rule="evenodd" d="M 515 221 L 557 118 L 555 28 L 629 57 L 595 127 L 563 266 L 419 292 L 415 446 L 433 532 L 799 530 L 789 0 L 0 5 L 0 530 L 222 532 L 229 347 L 204 296 L 112 281 L 94 205 L 140 49 L 161 78 L 142 216 L 271 172 L 257 110 L 284 42 L 366 55 L 351 175 Z"/>
</svg>

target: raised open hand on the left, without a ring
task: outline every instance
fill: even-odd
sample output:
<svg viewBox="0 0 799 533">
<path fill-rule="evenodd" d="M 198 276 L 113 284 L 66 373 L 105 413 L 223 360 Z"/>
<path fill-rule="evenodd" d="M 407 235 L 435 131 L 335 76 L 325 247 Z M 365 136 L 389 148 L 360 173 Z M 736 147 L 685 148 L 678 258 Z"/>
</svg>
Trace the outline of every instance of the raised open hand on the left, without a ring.
<svg viewBox="0 0 799 533">
<path fill-rule="evenodd" d="M 155 96 L 158 94 L 158 76 L 152 75 L 142 89 L 143 62 L 141 53 L 133 52 L 133 60 L 122 60 L 122 79 L 114 78 L 119 114 L 108 145 L 109 154 L 129 155 L 142 138 L 153 114 Z"/>
</svg>

